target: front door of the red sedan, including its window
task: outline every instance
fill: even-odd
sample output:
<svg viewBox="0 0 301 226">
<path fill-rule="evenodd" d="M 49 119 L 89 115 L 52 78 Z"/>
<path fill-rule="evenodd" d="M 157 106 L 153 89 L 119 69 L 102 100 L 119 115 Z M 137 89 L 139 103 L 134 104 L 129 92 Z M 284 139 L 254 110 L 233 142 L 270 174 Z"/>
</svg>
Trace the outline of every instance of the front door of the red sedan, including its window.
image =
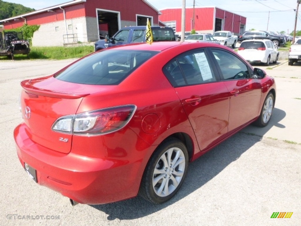
<svg viewBox="0 0 301 226">
<path fill-rule="evenodd" d="M 234 53 L 221 49 L 212 49 L 212 53 L 230 97 L 228 130 L 236 130 L 258 116 L 261 84 Z"/>
</svg>

